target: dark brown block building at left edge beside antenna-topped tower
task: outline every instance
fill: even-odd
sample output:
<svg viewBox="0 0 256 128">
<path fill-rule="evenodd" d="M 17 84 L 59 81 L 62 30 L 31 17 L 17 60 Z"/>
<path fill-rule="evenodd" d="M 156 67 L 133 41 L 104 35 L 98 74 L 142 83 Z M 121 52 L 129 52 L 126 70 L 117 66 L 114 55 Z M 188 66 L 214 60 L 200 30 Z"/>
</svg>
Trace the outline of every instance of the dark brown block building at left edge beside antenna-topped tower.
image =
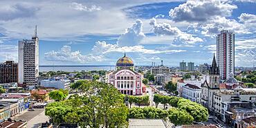
<svg viewBox="0 0 256 128">
<path fill-rule="evenodd" d="M 0 63 L 0 83 L 18 82 L 18 63 L 6 61 Z"/>
</svg>

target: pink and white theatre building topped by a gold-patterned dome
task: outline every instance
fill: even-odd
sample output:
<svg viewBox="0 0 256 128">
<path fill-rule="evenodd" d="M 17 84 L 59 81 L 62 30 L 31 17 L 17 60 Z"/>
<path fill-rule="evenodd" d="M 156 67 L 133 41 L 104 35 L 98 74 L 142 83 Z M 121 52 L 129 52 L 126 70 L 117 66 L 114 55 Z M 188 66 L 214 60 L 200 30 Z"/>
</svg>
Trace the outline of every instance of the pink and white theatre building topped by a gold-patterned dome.
<svg viewBox="0 0 256 128">
<path fill-rule="evenodd" d="M 106 77 L 105 82 L 115 86 L 122 94 L 143 94 L 143 75 L 134 71 L 134 62 L 126 55 L 116 62 L 116 71 L 107 73 Z"/>
</svg>

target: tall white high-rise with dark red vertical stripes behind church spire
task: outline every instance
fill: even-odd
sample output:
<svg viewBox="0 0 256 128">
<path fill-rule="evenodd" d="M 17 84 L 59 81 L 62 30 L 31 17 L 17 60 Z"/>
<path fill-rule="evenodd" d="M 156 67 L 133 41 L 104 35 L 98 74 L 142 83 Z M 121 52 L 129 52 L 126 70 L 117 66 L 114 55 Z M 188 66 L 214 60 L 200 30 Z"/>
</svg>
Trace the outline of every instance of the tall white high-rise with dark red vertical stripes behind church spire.
<svg viewBox="0 0 256 128">
<path fill-rule="evenodd" d="M 235 34 L 228 30 L 217 35 L 217 64 L 222 80 L 235 73 Z"/>
</svg>

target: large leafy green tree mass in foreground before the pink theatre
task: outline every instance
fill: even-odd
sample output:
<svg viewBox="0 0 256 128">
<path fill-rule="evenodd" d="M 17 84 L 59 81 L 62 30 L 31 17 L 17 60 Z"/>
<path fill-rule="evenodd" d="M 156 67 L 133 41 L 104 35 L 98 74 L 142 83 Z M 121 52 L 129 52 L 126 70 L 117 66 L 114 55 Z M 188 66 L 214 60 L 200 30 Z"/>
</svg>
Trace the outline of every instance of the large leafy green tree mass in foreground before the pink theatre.
<svg viewBox="0 0 256 128">
<path fill-rule="evenodd" d="M 80 127 L 127 127 L 128 108 L 121 93 L 101 82 L 84 82 L 84 95 L 46 106 L 46 115 L 60 122 L 78 123 Z"/>
</svg>

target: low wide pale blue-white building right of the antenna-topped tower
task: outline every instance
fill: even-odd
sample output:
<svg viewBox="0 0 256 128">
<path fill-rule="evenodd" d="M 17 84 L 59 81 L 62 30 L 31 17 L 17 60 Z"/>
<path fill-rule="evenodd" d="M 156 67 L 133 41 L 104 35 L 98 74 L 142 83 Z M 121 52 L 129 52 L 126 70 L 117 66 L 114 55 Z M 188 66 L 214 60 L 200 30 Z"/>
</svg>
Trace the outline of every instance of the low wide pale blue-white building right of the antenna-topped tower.
<svg viewBox="0 0 256 128">
<path fill-rule="evenodd" d="M 70 87 L 70 80 L 64 79 L 50 79 L 50 80 L 42 80 L 41 86 L 51 87 L 55 89 L 68 89 Z"/>
</svg>

